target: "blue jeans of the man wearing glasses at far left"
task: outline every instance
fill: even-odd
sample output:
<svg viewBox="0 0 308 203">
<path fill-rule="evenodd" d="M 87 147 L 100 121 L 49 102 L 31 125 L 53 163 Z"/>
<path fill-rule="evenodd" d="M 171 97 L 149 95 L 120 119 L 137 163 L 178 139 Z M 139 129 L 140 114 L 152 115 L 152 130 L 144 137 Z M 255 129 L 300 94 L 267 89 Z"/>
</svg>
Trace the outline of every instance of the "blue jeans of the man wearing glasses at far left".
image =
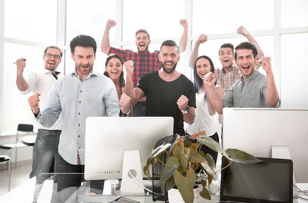
<svg viewBox="0 0 308 203">
<path fill-rule="evenodd" d="M 34 154 L 30 178 L 36 176 L 37 183 L 43 183 L 46 179 L 50 165 L 55 157 L 55 170 L 58 172 L 58 145 L 61 130 L 38 129 L 34 143 Z"/>
</svg>

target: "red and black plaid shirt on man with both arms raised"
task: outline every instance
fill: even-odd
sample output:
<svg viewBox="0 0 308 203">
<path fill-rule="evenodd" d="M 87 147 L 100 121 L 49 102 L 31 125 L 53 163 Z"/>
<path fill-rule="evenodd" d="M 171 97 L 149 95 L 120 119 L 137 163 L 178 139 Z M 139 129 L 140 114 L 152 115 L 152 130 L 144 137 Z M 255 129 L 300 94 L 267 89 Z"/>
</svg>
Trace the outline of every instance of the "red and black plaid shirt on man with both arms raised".
<svg viewBox="0 0 308 203">
<path fill-rule="evenodd" d="M 150 53 L 139 53 L 133 52 L 131 50 L 122 50 L 114 47 L 110 47 L 109 54 L 118 54 L 123 58 L 123 61 L 133 60 L 134 61 L 134 71 L 132 74 L 133 86 L 138 84 L 139 79 L 146 73 L 154 72 L 159 70 L 161 65 L 158 59 L 159 51 L 154 51 Z"/>
</svg>

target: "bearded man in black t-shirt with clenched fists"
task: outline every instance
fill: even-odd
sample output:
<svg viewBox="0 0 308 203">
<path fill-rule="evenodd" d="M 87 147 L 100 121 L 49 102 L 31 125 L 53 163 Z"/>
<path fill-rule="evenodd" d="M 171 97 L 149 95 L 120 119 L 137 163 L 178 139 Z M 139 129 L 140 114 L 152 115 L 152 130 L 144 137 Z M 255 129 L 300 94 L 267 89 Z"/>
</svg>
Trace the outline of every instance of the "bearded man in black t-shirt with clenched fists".
<svg viewBox="0 0 308 203">
<path fill-rule="evenodd" d="M 176 42 L 164 41 L 158 58 L 162 68 L 142 76 L 135 89 L 126 86 L 125 92 L 131 97 L 131 105 L 146 95 L 146 116 L 172 116 L 174 134 L 185 135 L 184 121 L 191 124 L 195 119 L 196 98 L 193 83 L 175 70 L 180 60 Z M 126 67 L 126 80 L 131 80 L 132 69 L 133 62 L 130 67 Z"/>
</svg>

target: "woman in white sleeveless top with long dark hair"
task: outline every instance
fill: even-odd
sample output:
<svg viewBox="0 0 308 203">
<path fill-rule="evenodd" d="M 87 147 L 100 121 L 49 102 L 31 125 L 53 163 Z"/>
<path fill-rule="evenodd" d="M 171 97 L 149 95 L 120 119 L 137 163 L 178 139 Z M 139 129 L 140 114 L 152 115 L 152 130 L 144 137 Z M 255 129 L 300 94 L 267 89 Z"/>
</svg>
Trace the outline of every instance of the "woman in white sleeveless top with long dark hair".
<svg viewBox="0 0 308 203">
<path fill-rule="evenodd" d="M 214 120 L 214 116 L 216 114 L 216 110 L 213 105 L 209 105 L 207 103 L 207 91 L 208 88 L 203 83 L 203 77 L 205 74 L 209 72 L 214 73 L 214 65 L 211 58 L 207 56 L 200 56 L 196 59 L 194 64 L 194 85 L 196 90 L 196 110 L 195 110 L 195 121 L 191 125 L 187 127 L 187 134 L 192 135 L 204 130 L 208 137 L 211 137 L 217 143 L 219 143 L 218 134 L 216 132 L 216 121 Z M 216 85 L 216 91 L 219 96 L 222 97 L 224 94 L 223 87 Z M 192 142 L 196 142 L 196 140 L 190 140 Z M 210 149 L 209 147 L 203 145 L 201 149 L 204 151 L 204 154 L 211 154 L 215 163 L 217 159 L 217 152 Z"/>
</svg>

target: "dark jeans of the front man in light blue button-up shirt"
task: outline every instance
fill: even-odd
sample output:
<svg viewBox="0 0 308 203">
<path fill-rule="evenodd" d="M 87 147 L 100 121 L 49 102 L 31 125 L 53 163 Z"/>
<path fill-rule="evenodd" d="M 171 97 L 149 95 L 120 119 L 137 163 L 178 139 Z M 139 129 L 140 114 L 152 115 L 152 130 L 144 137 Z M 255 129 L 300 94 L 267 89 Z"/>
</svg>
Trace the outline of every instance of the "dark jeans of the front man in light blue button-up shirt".
<svg viewBox="0 0 308 203">
<path fill-rule="evenodd" d="M 59 155 L 58 166 L 58 203 L 64 203 L 68 198 L 71 199 L 84 181 L 85 165 L 69 164 Z M 103 194 L 104 180 L 92 180 L 90 186 L 90 192 Z M 78 194 L 75 196 L 76 201 L 77 197 Z"/>
</svg>

